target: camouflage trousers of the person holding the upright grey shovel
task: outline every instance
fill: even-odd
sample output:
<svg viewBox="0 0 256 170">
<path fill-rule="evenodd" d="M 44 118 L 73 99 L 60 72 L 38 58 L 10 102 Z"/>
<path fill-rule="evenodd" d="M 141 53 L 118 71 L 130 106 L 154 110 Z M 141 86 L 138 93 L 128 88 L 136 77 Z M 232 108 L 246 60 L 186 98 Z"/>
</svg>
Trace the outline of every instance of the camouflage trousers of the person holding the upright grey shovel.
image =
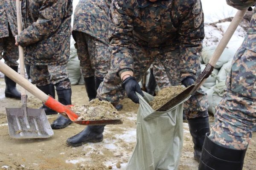
<svg viewBox="0 0 256 170">
<path fill-rule="evenodd" d="M 70 89 L 67 66 L 64 65 L 31 65 L 30 77 L 37 86 L 57 85 L 56 90 Z"/>
</svg>

